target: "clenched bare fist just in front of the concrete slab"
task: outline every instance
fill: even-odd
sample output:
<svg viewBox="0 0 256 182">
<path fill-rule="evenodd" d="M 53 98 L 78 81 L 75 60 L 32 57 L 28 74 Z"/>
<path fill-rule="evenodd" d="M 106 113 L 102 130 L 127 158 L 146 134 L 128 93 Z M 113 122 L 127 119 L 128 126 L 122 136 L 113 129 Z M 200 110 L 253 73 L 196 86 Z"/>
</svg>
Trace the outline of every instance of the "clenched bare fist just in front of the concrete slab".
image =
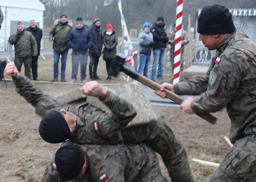
<svg viewBox="0 0 256 182">
<path fill-rule="evenodd" d="M 89 81 L 80 88 L 80 91 L 84 95 L 90 95 L 98 97 L 100 100 L 105 100 L 107 97 L 107 91 L 103 89 L 102 85 L 97 81 Z"/>
</svg>

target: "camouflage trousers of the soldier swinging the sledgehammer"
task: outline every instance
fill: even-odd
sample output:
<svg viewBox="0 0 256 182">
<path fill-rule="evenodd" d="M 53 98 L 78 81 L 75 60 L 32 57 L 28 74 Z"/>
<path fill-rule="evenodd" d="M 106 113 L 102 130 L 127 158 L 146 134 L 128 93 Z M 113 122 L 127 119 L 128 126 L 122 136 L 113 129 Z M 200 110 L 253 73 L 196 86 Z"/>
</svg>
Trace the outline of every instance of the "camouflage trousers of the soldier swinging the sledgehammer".
<svg viewBox="0 0 256 182">
<path fill-rule="evenodd" d="M 210 182 L 256 182 L 256 135 L 235 142 Z"/>
</svg>

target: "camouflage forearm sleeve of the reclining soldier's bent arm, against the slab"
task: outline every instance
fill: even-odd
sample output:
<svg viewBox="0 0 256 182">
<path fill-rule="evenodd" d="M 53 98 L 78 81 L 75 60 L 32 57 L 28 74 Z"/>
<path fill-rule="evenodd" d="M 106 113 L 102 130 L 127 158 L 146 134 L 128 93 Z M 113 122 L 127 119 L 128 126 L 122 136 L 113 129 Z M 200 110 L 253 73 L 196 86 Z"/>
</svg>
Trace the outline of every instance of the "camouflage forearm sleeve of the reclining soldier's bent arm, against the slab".
<svg viewBox="0 0 256 182">
<path fill-rule="evenodd" d="M 128 125 L 137 115 L 135 108 L 128 101 L 111 91 L 107 91 L 107 98 L 104 104 L 108 106 L 113 113 L 114 119 L 120 121 L 122 126 Z"/>
</svg>

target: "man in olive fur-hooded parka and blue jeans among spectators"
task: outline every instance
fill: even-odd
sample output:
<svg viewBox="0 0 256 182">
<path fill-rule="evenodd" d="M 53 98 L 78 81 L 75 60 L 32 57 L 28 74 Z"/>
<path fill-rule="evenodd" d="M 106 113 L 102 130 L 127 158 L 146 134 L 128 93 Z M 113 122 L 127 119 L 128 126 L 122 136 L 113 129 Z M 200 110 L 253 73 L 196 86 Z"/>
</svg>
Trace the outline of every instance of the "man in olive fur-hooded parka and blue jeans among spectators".
<svg viewBox="0 0 256 182">
<path fill-rule="evenodd" d="M 65 72 L 66 72 L 66 61 L 68 57 L 68 43 L 67 36 L 70 30 L 72 30 L 73 23 L 68 20 L 66 14 L 60 15 L 60 20 L 54 21 L 54 26 L 49 34 L 50 42 L 53 42 L 53 68 L 54 68 L 54 78 L 52 81 L 58 81 L 59 75 L 59 60 L 61 55 L 61 68 L 60 68 L 60 81 L 66 82 Z"/>
</svg>

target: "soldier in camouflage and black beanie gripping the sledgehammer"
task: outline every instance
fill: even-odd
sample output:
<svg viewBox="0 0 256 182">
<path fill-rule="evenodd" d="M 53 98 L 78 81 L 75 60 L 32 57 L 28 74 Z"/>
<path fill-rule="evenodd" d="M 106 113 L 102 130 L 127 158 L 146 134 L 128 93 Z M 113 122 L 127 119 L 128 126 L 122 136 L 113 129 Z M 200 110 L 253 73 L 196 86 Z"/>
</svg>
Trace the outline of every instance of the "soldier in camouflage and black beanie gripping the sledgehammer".
<svg viewBox="0 0 256 182">
<path fill-rule="evenodd" d="M 211 182 L 256 181 L 256 44 L 236 30 L 229 9 L 205 6 L 198 17 L 199 40 L 216 55 L 206 76 L 197 76 L 169 89 L 188 97 L 181 103 L 187 113 L 210 113 L 226 107 L 234 144 L 211 177 Z M 156 91 L 161 97 L 164 92 Z"/>
</svg>

